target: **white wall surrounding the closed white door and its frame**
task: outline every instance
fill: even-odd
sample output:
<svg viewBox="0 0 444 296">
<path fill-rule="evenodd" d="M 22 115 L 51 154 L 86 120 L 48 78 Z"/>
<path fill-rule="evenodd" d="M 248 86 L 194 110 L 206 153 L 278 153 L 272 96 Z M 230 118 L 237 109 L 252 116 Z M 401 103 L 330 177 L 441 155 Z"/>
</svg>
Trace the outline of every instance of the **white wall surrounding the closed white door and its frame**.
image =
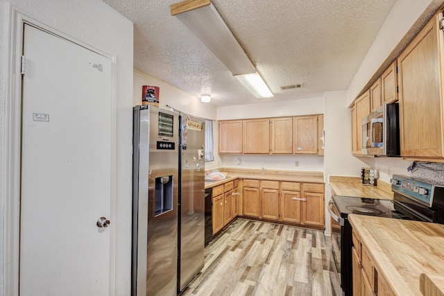
<svg viewBox="0 0 444 296">
<path fill-rule="evenodd" d="M 116 209 L 112 225 L 116 234 L 116 295 L 129 295 L 132 194 L 133 24 L 101 0 L 10 0 L 12 6 L 49 26 L 76 37 L 117 58 L 117 180 Z M 0 295 L 3 295 L 3 248 L 6 196 L 6 74 L 10 17 L 8 2 L 0 0 Z M 40 268 L 44 268 L 41 266 Z M 9 296 L 9 295 L 5 295 Z"/>
</svg>

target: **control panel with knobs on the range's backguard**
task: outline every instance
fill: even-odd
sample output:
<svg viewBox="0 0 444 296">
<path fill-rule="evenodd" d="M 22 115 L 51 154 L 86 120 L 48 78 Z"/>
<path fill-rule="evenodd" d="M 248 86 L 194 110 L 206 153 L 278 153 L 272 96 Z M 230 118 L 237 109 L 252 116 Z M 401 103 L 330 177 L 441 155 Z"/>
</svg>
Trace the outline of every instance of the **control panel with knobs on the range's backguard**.
<svg viewBox="0 0 444 296">
<path fill-rule="evenodd" d="M 413 200 L 432 207 L 435 185 L 403 175 L 393 175 L 390 182 L 392 191 L 407 195 Z"/>
</svg>

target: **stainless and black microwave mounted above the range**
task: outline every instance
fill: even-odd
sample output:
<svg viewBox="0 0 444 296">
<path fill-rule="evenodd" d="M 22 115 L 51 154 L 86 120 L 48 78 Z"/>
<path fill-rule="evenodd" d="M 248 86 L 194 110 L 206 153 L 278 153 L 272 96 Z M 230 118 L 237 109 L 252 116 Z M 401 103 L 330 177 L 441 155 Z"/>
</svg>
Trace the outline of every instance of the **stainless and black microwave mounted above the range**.
<svg viewBox="0 0 444 296">
<path fill-rule="evenodd" d="M 400 156 L 399 104 L 384 104 L 362 119 L 362 154 Z"/>
</svg>

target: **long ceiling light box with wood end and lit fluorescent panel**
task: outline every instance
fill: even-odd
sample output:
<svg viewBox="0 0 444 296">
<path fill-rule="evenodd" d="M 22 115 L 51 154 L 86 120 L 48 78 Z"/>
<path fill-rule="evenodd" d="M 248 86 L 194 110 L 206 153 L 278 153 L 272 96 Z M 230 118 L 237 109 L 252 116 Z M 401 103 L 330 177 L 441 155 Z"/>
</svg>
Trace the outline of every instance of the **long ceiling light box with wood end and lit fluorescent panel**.
<svg viewBox="0 0 444 296">
<path fill-rule="evenodd" d="M 257 98 L 273 96 L 210 0 L 185 0 L 173 4 L 171 15 L 182 21 L 189 31 L 196 35 L 198 40 L 207 46 L 207 49 L 210 49 L 234 76 L 249 73 L 257 75 L 268 90 L 266 95 L 257 96 L 256 91 L 253 91 L 251 87 L 242 82 L 241 78 L 237 77 Z"/>
</svg>

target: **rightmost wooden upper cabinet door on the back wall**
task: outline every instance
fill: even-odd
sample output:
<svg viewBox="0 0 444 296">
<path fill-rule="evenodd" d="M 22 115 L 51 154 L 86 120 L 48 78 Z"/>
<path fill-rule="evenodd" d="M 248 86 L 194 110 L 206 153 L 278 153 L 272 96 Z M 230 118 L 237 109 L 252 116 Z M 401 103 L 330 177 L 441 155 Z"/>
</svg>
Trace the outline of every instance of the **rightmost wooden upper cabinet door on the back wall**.
<svg viewBox="0 0 444 296">
<path fill-rule="evenodd" d="M 318 116 L 293 117 L 293 152 L 318 154 Z"/>
</svg>

